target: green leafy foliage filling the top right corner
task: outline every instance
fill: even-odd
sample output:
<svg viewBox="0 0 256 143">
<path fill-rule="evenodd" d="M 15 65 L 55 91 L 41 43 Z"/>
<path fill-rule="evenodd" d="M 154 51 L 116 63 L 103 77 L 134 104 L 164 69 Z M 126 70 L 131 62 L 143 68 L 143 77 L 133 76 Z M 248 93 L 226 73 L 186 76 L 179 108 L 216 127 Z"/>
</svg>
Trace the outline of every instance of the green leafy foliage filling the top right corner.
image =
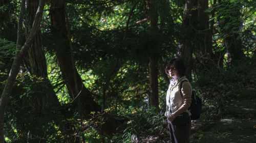
<svg viewBox="0 0 256 143">
<path fill-rule="evenodd" d="M 234 48 L 226 47 L 224 43 L 226 39 L 234 37 L 234 40 L 242 40 L 242 47 L 239 48 L 245 55 L 252 56 L 255 51 L 255 6 L 255 1 L 226 0 L 206 10 L 208 13 L 215 11 L 214 17 L 209 20 L 216 21 L 217 32 L 213 40 L 217 51 Z"/>
</svg>

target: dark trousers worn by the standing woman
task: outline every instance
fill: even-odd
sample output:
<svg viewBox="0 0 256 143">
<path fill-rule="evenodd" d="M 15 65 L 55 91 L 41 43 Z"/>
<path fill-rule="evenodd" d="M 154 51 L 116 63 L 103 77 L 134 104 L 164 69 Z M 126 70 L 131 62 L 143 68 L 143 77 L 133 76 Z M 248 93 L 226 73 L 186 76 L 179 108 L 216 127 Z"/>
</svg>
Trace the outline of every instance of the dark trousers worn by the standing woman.
<svg viewBox="0 0 256 143">
<path fill-rule="evenodd" d="M 168 119 L 168 128 L 170 132 L 170 142 L 172 143 L 189 143 L 191 130 L 191 120 L 185 126 L 175 126 Z"/>
</svg>

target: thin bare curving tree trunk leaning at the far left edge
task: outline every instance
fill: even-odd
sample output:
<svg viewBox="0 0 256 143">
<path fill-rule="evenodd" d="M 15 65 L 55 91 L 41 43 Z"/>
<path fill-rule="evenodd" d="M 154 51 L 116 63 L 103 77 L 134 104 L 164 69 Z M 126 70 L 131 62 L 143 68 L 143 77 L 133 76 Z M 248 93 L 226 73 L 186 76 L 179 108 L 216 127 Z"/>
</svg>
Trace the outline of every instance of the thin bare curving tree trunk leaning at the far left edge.
<svg viewBox="0 0 256 143">
<path fill-rule="evenodd" d="M 22 48 L 16 52 L 16 58 L 13 61 L 11 71 L 9 73 L 8 79 L 5 84 L 4 91 L 2 93 L 2 96 L 0 98 L 0 143 L 5 142 L 4 138 L 4 115 L 5 115 L 5 109 L 9 101 L 9 97 L 11 95 L 11 91 L 15 82 L 15 78 L 19 71 L 19 66 L 22 63 L 22 59 L 24 58 L 24 55 L 29 49 L 29 45 L 31 44 L 41 21 L 42 12 L 44 10 L 45 1 L 40 0 L 39 6 L 35 15 L 35 19 L 33 22 L 33 26 L 31 28 L 30 34 L 28 39 L 26 40 L 25 44 L 22 46 Z"/>
</svg>

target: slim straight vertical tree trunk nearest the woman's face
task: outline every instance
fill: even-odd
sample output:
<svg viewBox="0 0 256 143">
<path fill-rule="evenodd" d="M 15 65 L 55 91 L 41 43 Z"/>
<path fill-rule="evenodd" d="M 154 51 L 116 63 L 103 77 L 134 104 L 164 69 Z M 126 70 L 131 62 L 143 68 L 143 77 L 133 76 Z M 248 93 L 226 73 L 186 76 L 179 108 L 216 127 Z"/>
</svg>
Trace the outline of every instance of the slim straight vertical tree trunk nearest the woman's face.
<svg viewBox="0 0 256 143">
<path fill-rule="evenodd" d="M 156 1 L 148 1 L 148 17 L 150 20 L 150 25 L 154 33 L 157 32 L 157 23 L 158 23 L 158 14 L 156 11 Z M 150 45 L 153 46 L 151 49 L 157 47 L 156 44 Z M 155 50 L 157 51 L 157 50 Z M 150 55 L 150 106 L 157 107 L 159 106 L 158 101 L 158 53 L 151 53 Z"/>
</svg>

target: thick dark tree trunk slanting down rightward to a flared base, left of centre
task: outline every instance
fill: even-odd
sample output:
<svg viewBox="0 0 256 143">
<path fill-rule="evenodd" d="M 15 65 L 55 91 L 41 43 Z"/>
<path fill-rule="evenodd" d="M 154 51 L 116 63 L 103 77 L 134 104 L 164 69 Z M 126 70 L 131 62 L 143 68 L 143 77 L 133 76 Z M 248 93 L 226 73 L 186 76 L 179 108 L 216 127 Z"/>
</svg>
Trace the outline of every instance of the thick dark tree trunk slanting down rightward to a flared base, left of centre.
<svg viewBox="0 0 256 143">
<path fill-rule="evenodd" d="M 80 115 L 84 118 L 90 118 L 91 111 L 100 111 L 101 107 L 93 100 L 91 93 L 84 87 L 82 79 L 71 62 L 70 47 L 68 32 L 65 21 L 65 3 L 63 1 L 52 1 L 51 3 L 51 23 L 52 26 L 62 35 L 62 40 L 65 42 L 65 47 L 56 49 L 57 63 L 60 67 L 62 78 L 67 80 L 67 89 L 72 99 L 77 98 Z M 74 75 L 75 73 L 76 75 Z M 76 78 L 75 78 L 76 77 Z M 76 81 L 75 81 L 76 80 Z M 75 82 L 78 83 L 78 91 L 75 87 Z"/>
</svg>

